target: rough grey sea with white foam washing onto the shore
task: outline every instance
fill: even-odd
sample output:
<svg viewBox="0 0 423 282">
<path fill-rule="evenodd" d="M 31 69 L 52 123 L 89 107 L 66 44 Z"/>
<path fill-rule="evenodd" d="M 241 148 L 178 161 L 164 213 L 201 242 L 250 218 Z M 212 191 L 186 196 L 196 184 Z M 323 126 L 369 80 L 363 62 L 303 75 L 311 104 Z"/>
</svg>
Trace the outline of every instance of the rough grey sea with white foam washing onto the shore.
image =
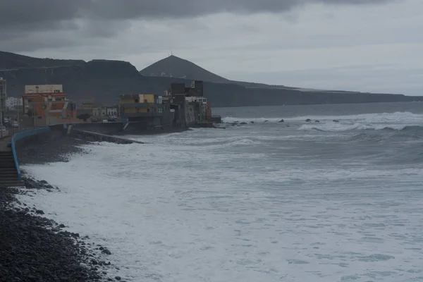
<svg viewBox="0 0 423 282">
<path fill-rule="evenodd" d="M 60 190 L 20 200 L 107 247 L 110 278 L 423 281 L 423 103 L 214 114 L 223 128 L 25 165 Z"/>
</svg>

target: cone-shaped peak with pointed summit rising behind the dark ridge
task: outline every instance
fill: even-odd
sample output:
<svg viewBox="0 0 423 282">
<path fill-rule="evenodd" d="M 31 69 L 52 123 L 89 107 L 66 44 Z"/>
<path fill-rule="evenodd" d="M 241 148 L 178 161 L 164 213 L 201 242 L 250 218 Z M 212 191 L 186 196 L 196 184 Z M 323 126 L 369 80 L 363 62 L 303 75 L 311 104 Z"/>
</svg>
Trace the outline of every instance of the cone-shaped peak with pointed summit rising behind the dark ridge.
<svg viewBox="0 0 423 282">
<path fill-rule="evenodd" d="M 168 56 L 153 63 L 140 71 L 145 76 L 159 76 L 165 78 L 183 78 L 190 80 L 204 80 L 208 82 L 228 82 L 226 78 L 215 75 L 204 68 L 197 66 L 177 56 Z"/>
</svg>

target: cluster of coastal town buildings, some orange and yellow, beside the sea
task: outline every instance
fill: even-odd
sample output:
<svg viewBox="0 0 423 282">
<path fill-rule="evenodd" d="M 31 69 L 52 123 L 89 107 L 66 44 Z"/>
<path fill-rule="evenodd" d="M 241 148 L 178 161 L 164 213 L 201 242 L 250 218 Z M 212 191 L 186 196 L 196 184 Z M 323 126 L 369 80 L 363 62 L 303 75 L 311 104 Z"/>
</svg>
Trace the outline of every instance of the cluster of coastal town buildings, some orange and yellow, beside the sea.
<svg viewBox="0 0 423 282">
<path fill-rule="evenodd" d="M 57 124 L 122 123 L 122 130 L 136 125 L 137 130 L 213 127 L 221 123 L 212 116 L 204 97 L 203 82 L 173 83 L 163 95 L 116 94 L 118 104 L 104 105 L 94 99 L 73 102 L 63 85 L 25 85 L 21 97 L 7 97 L 6 80 L 0 78 L 0 117 L 7 128 L 39 128 Z M 5 126 L 6 125 L 6 126 Z"/>
</svg>

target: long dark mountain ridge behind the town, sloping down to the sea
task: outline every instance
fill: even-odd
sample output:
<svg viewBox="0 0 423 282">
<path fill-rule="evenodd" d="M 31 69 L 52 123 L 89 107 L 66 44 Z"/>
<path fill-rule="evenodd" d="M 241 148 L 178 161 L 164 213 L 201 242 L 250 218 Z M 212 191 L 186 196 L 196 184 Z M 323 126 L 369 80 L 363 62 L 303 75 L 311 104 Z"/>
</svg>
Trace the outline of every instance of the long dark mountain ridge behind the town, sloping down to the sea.
<svg viewBox="0 0 423 282">
<path fill-rule="evenodd" d="M 182 60 L 177 57 L 166 59 L 164 63 L 163 60 L 158 62 L 157 69 L 162 69 L 160 66 L 165 66 L 166 61 L 180 63 Z M 140 73 L 125 61 L 37 59 L 8 52 L 0 53 L 0 66 L 0 77 L 6 78 L 8 83 L 8 96 L 21 96 L 25 85 L 62 84 L 69 99 L 78 103 L 94 98 L 102 104 L 114 104 L 118 102 L 119 94 L 163 94 L 171 83 L 188 85 L 193 79 L 204 80 L 204 95 L 214 107 L 423 101 L 423 97 L 403 94 L 300 90 L 281 85 L 235 82 L 200 67 L 202 71 L 198 71 L 194 63 L 185 60 L 182 71 L 172 66 L 175 70 L 172 75 L 176 73 L 183 78 L 142 75 L 145 70 L 153 68 L 148 67 Z"/>
</svg>

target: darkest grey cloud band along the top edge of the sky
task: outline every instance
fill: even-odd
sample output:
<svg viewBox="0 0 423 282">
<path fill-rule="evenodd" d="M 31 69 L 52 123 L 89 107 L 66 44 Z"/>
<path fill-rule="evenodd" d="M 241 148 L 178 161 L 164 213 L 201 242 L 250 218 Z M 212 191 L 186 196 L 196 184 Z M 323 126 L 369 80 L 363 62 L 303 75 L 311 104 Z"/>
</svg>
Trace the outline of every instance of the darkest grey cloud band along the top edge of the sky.
<svg viewBox="0 0 423 282">
<path fill-rule="evenodd" d="M 0 29 L 63 28 L 76 19 L 182 18 L 212 13 L 283 12 L 307 3 L 377 4 L 394 0 L 1 0 Z"/>
</svg>

